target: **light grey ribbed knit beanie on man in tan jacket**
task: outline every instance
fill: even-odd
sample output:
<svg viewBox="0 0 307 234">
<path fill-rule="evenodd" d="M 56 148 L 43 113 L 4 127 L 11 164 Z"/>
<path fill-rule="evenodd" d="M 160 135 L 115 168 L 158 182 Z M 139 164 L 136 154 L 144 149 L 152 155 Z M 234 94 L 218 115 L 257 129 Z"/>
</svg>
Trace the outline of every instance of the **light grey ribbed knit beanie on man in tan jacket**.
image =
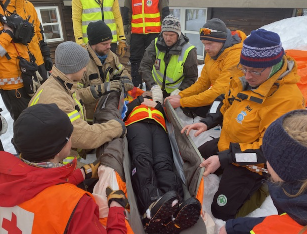
<svg viewBox="0 0 307 234">
<path fill-rule="evenodd" d="M 86 49 L 73 41 L 65 41 L 56 47 L 55 66 L 64 74 L 72 74 L 86 67 L 90 57 Z"/>
</svg>

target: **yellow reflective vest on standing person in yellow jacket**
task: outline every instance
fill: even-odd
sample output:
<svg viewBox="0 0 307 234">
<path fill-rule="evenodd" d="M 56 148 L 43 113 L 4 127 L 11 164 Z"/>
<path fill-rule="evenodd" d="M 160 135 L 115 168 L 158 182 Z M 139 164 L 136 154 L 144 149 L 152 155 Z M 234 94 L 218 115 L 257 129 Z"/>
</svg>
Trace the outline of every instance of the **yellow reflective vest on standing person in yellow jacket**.
<svg viewBox="0 0 307 234">
<path fill-rule="evenodd" d="M 109 26 L 113 35 L 112 42 L 117 42 L 116 23 L 113 14 L 114 0 L 103 0 L 102 7 L 101 7 L 101 2 L 100 4 L 98 4 L 95 0 L 81 0 L 81 4 L 82 4 L 82 33 L 83 33 L 84 43 L 87 44 L 88 42 L 87 33 L 86 33 L 88 24 L 99 20 L 103 20 Z"/>
</svg>

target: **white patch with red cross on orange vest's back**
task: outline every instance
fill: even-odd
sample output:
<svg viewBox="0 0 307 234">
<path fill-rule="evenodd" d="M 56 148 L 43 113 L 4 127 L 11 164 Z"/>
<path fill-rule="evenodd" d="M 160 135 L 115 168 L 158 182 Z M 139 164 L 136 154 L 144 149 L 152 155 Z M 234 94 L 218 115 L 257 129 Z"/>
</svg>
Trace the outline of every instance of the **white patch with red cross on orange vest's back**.
<svg viewBox="0 0 307 234">
<path fill-rule="evenodd" d="M 0 207 L 0 233 L 31 233 L 34 213 L 19 206 Z"/>
</svg>

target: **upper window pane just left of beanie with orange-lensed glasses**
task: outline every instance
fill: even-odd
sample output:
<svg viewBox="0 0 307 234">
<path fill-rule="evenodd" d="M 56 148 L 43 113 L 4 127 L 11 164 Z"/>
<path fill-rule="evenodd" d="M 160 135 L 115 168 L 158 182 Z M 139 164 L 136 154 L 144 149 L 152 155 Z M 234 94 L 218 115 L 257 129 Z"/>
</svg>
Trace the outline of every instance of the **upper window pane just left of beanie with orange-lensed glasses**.
<svg viewBox="0 0 307 234">
<path fill-rule="evenodd" d="M 206 23 L 206 10 L 185 10 L 185 30 L 199 31 Z"/>
</svg>

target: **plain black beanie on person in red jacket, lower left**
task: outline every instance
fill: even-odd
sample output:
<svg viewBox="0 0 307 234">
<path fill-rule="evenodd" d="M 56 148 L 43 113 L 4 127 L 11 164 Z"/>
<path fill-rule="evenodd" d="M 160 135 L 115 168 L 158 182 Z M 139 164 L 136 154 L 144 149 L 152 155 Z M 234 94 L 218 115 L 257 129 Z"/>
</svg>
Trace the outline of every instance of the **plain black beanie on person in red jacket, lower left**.
<svg viewBox="0 0 307 234">
<path fill-rule="evenodd" d="M 72 123 L 55 103 L 23 110 L 14 123 L 14 144 L 30 162 L 43 162 L 59 153 L 72 135 Z"/>
</svg>

